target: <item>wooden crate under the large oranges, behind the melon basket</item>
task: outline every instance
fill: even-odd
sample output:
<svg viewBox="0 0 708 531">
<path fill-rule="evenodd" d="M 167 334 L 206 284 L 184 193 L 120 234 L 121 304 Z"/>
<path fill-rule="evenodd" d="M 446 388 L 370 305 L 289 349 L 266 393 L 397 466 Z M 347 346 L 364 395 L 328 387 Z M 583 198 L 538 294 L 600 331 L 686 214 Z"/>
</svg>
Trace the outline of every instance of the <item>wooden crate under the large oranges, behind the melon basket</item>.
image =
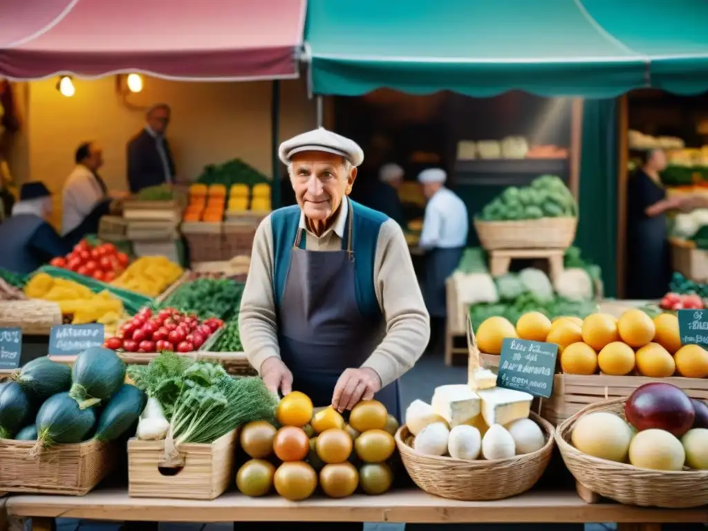
<svg viewBox="0 0 708 531">
<path fill-rule="evenodd" d="M 613 398 L 627 398 L 634 389 L 650 382 L 672 384 L 695 399 L 708 399 L 708 379 L 649 378 L 646 376 L 566 375 L 557 374 L 553 396 L 542 401 L 542 416 L 555 425 L 578 413 L 589 404 Z"/>
</svg>

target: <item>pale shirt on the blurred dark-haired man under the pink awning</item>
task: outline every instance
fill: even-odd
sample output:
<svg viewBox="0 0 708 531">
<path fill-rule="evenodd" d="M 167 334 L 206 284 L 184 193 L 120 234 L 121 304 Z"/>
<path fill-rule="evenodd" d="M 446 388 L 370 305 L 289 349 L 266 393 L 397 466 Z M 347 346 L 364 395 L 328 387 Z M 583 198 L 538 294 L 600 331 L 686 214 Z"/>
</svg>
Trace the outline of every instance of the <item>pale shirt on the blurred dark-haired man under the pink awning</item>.
<svg viewBox="0 0 708 531">
<path fill-rule="evenodd" d="M 103 190 L 96 177 L 83 164 L 76 164 L 62 189 L 62 236 L 76 229 L 101 200 Z"/>
</svg>

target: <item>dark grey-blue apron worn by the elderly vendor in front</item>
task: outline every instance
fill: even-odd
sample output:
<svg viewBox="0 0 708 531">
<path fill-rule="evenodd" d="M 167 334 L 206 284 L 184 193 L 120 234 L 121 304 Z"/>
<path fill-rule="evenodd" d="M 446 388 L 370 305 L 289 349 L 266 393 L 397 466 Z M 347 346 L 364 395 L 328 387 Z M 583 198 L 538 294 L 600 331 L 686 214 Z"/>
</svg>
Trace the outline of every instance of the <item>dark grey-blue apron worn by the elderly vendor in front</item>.
<svg viewBox="0 0 708 531">
<path fill-rule="evenodd" d="M 363 316 L 357 304 L 351 203 L 346 251 L 300 249 L 302 232 L 298 227 L 278 308 L 280 356 L 292 372 L 292 389 L 307 394 L 314 406 L 329 406 L 342 372 L 369 358 L 384 324 Z M 400 397 L 396 380 L 375 398 L 401 421 Z"/>
</svg>

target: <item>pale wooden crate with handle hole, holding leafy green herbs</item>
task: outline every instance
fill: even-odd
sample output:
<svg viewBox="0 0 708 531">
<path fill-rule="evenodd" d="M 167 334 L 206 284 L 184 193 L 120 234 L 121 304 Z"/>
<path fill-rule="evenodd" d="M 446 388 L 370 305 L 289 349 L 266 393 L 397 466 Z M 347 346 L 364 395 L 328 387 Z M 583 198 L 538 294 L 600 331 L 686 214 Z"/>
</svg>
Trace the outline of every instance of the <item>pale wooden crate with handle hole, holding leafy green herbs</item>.
<svg viewBox="0 0 708 531">
<path fill-rule="evenodd" d="M 213 500 L 234 479 L 238 430 L 210 445 L 181 445 L 178 457 L 166 456 L 164 440 L 128 441 L 128 496 Z M 168 458 L 166 458 L 168 457 Z"/>
</svg>

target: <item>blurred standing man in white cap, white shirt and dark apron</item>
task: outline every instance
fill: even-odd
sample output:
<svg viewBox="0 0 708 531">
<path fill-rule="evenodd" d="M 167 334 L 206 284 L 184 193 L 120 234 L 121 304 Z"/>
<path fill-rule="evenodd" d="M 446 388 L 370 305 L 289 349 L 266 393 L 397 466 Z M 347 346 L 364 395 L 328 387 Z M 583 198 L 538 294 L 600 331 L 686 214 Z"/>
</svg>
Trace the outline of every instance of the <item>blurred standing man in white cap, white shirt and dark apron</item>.
<svg viewBox="0 0 708 531">
<path fill-rule="evenodd" d="M 418 243 L 426 250 L 426 277 L 423 295 L 430 313 L 429 350 L 436 350 L 445 333 L 445 280 L 452 275 L 467 245 L 467 207 L 452 190 L 445 188 L 447 173 L 430 168 L 418 174 L 423 195 L 428 199 L 423 232 Z"/>
</svg>

